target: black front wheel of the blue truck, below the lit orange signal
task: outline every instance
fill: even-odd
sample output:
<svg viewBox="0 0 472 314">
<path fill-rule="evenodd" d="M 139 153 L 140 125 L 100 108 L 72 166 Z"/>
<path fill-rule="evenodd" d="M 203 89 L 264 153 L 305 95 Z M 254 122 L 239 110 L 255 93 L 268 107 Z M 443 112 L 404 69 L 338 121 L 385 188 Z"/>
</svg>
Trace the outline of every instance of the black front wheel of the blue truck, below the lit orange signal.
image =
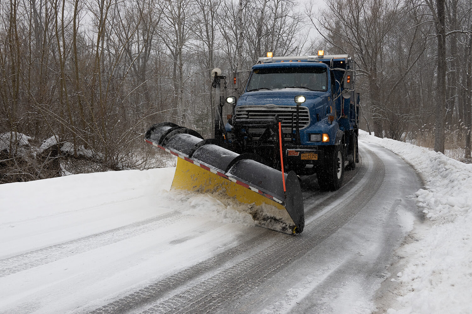
<svg viewBox="0 0 472 314">
<path fill-rule="evenodd" d="M 318 185 L 321 190 L 335 191 L 341 187 L 344 179 L 344 145 L 330 147 L 325 153 L 325 162 L 318 171 Z"/>
</svg>

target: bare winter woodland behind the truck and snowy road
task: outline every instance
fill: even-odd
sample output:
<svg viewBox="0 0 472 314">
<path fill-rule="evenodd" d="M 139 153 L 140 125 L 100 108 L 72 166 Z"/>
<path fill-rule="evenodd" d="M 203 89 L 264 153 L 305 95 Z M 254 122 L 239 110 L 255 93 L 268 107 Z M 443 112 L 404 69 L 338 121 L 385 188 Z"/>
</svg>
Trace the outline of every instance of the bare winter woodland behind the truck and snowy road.
<svg viewBox="0 0 472 314">
<path fill-rule="evenodd" d="M 0 0 L 0 183 L 163 166 L 168 157 L 144 143 L 145 130 L 172 121 L 211 136 L 211 69 L 248 70 L 267 51 L 353 56 L 362 129 L 470 161 L 471 0 L 318 8 Z"/>
</svg>

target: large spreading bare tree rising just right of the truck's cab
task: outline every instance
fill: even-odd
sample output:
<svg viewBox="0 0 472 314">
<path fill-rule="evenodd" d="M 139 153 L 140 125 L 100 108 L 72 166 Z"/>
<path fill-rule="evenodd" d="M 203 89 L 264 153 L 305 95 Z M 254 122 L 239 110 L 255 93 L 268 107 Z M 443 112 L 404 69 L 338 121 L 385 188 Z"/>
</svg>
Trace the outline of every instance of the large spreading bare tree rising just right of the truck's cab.
<svg viewBox="0 0 472 314">
<path fill-rule="evenodd" d="M 399 112 L 407 108 L 400 89 L 425 49 L 425 38 L 414 24 L 421 21 L 414 12 L 401 1 L 328 0 L 320 14 L 315 15 L 311 6 L 306 14 L 331 53 L 348 53 L 358 62 L 359 81 L 366 91 L 363 103 L 368 104 L 375 135 L 383 137 L 386 122 L 392 130 L 408 121 L 408 113 Z M 398 133 L 391 135 L 399 137 Z"/>
</svg>

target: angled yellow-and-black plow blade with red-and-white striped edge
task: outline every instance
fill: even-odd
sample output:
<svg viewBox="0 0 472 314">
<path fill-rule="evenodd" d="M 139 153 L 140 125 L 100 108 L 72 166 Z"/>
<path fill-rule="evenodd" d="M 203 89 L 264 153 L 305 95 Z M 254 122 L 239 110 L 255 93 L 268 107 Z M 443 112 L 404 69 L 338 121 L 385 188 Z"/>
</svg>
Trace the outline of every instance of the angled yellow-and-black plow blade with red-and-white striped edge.
<svg viewBox="0 0 472 314">
<path fill-rule="evenodd" d="M 284 174 L 284 193 L 282 172 L 256 161 L 257 155 L 234 153 L 170 122 L 154 124 L 145 141 L 178 157 L 171 189 L 208 193 L 225 205 L 236 200 L 257 225 L 290 234 L 303 231 L 302 190 L 295 172 Z"/>
</svg>

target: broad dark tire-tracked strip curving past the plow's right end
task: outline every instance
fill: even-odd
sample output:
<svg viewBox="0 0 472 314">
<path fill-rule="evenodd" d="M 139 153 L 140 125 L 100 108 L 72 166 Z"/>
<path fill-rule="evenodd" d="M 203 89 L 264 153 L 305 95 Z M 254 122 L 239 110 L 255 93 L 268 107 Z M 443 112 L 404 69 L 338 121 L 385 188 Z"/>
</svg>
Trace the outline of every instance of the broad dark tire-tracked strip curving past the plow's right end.
<svg viewBox="0 0 472 314">
<path fill-rule="evenodd" d="M 299 236 L 287 236 L 265 231 L 262 236 L 254 238 L 238 247 L 225 251 L 225 255 L 234 257 L 243 251 L 252 250 L 253 254 L 239 261 L 234 258 L 228 263 L 214 263 L 208 259 L 185 271 L 179 272 L 163 281 L 155 282 L 147 287 L 135 291 L 124 298 L 98 308 L 90 314 L 111 313 L 231 313 L 236 307 L 237 300 L 249 290 L 257 289 L 259 285 L 278 274 L 285 265 L 289 265 L 304 253 L 316 247 L 324 239 L 335 233 L 345 225 L 351 217 L 358 213 L 379 191 L 385 176 L 385 166 L 382 161 L 366 150 L 369 170 L 376 166 L 376 172 L 363 169 L 360 181 L 350 181 L 352 191 L 349 197 L 341 197 L 342 191 L 332 193 L 332 197 L 322 198 L 320 206 L 325 207 L 320 212 L 311 211 L 317 216 L 305 225 L 304 232 Z M 346 192 L 346 191 L 344 191 Z M 339 197 L 339 198 L 337 198 Z M 312 205 L 310 208 L 313 208 Z M 254 252 L 254 247 L 262 242 L 272 242 L 266 248 Z M 218 258 L 217 258 L 218 259 Z M 235 263 L 236 262 L 236 263 Z M 222 266 L 219 266 L 222 265 Z M 199 274 L 213 271 L 207 277 Z M 214 272 L 217 271 L 216 274 Z M 196 283 L 188 283 L 198 279 Z M 170 296 L 167 296 L 169 295 Z M 224 307 L 222 305 L 224 304 Z M 227 312 L 224 312 L 224 310 Z M 229 309 L 229 310 L 228 310 Z"/>
</svg>

